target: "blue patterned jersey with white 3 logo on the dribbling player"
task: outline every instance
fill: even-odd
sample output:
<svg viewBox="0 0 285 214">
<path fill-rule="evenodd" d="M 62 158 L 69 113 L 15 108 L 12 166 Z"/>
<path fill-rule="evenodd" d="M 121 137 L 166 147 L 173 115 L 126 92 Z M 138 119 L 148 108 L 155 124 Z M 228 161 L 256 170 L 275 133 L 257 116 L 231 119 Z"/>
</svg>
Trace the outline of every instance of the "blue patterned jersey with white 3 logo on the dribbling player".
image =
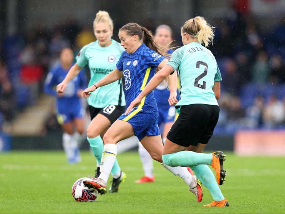
<svg viewBox="0 0 285 214">
<path fill-rule="evenodd" d="M 126 90 L 126 106 L 140 94 L 154 76 L 156 68 L 165 59 L 145 44 L 140 45 L 133 53 L 126 51 L 121 55 L 117 68 L 123 71 Z M 141 102 L 142 110 L 158 111 L 154 93 L 151 91 Z"/>
</svg>

